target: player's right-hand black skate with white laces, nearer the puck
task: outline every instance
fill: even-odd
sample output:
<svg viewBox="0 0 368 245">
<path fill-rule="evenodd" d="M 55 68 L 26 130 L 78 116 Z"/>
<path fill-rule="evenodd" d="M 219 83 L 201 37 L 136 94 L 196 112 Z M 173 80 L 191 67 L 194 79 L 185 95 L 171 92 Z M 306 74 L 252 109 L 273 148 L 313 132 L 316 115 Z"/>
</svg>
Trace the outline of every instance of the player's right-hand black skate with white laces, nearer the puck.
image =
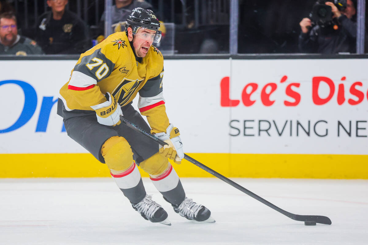
<svg viewBox="0 0 368 245">
<path fill-rule="evenodd" d="M 211 217 L 211 211 L 205 206 L 193 202 L 193 199 L 185 197 L 180 205 L 173 205 L 174 211 L 188 220 L 199 222 L 215 223 L 215 219 Z"/>
</svg>

